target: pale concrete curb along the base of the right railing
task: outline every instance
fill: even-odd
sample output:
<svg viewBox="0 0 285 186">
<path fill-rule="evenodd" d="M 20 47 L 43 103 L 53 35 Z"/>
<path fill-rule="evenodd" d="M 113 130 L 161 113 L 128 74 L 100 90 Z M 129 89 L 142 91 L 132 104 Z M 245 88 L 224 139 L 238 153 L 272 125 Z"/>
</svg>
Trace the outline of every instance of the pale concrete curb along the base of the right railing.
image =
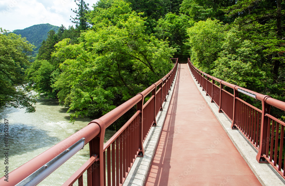
<svg viewBox="0 0 285 186">
<path fill-rule="evenodd" d="M 217 120 L 220 122 L 221 126 L 223 127 L 223 129 L 225 130 L 239 153 L 241 153 L 241 156 L 243 157 L 243 159 L 245 159 L 245 161 L 257 177 L 258 181 L 260 181 L 262 185 L 285 185 L 285 180 L 270 164 L 258 163 L 256 161 L 255 158 L 257 155 L 257 150 L 255 149 L 255 147 L 252 146 L 252 144 L 243 136 L 243 134 L 239 130 L 231 129 L 231 121 L 227 118 L 227 116 L 225 116 L 224 113 L 218 112 L 218 106 L 215 103 L 211 103 L 211 98 L 209 96 L 206 96 L 205 91 L 202 91 L 202 87 L 200 87 L 200 84 L 196 82 L 196 79 L 191 73 L 189 66 L 188 69 L 204 100 L 207 102 L 213 114 L 216 116 Z"/>
</svg>

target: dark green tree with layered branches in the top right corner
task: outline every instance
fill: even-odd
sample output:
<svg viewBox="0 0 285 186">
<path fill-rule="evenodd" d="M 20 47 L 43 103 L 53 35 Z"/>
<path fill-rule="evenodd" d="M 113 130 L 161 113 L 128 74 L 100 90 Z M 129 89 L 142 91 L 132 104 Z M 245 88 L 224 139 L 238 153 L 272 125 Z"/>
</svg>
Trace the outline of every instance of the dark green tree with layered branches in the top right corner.
<svg viewBox="0 0 285 186">
<path fill-rule="evenodd" d="M 225 9 L 229 17 L 238 16 L 235 23 L 247 37 L 263 47 L 276 80 L 279 68 L 284 66 L 284 8 L 282 0 L 243 0 Z"/>
</svg>

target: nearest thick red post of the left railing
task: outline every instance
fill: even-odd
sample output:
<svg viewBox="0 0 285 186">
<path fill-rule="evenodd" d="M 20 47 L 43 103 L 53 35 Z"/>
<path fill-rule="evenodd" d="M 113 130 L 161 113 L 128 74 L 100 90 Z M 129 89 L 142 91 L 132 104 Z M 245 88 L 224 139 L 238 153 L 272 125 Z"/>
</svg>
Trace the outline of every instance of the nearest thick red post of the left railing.
<svg viewBox="0 0 285 186">
<path fill-rule="evenodd" d="M 100 133 L 98 137 L 93 138 L 89 142 L 90 157 L 93 155 L 99 155 L 99 160 L 95 161 L 91 167 L 87 169 L 87 183 L 88 186 L 103 186 L 105 180 L 103 146 L 106 126 L 105 122 L 100 119 L 93 120 L 90 123 L 97 123 L 100 126 Z"/>
</svg>

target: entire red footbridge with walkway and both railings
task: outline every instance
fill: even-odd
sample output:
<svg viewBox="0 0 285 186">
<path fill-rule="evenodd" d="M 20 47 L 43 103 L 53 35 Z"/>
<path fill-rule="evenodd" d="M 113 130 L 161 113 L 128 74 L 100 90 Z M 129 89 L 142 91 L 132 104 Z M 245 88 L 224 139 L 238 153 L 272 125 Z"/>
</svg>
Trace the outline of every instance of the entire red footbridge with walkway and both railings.
<svg viewBox="0 0 285 186">
<path fill-rule="evenodd" d="M 90 158 L 63 185 L 123 185 L 125 181 L 128 185 L 267 185 L 243 159 L 195 82 L 216 110 L 225 114 L 231 130 L 239 130 L 257 151 L 255 161 L 269 164 L 284 183 L 285 123 L 270 115 L 270 108 L 284 111 L 285 103 L 210 76 L 189 59 L 188 64 L 175 61 L 162 79 L 9 173 L 9 182 L 2 177 L 0 185 L 36 185 L 87 143 Z M 232 89 L 233 94 L 225 89 Z M 262 108 L 245 102 L 239 94 L 259 100 Z M 146 96 L 150 98 L 144 102 Z M 164 107 L 166 98 L 169 109 Z M 137 112 L 104 144 L 105 129 L 135 105 Z M 161 112 L 166 116 L 160 127 Z M 155 134 L 150 132 L 153 128 L 161 128 L 161 133 L 157 144 L 147 142 L 154 146 L 147 175 L 135 171 L 142 178 L 128 179 L 135 174 L 136 161 L 149 155 L 144 146 L 151 140 L 149 133 Z"/>
</svg>

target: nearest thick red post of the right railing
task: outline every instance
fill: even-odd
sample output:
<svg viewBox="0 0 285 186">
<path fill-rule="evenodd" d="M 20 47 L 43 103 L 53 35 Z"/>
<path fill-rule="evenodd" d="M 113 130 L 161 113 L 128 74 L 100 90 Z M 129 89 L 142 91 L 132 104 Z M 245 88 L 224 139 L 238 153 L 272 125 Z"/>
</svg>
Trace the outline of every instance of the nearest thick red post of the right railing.
<svg viewBox="0 0 285 186">
<path fill-rule="evenodd" d="M 264 96 L 262 98 L 262 118 L 260 126 L 260 138 L 259 138 L 259 149 L 256 156 L 258 163 L 268 163 L 265 161 L 264 156 L 266 155 L 266 145 L 269 143 L 269 137 L 267 136 L 268 132 L 268 116 L 266 114 L 270 113 L 270 105 L 266 104 L 266 99 L 270 96 Z"/>
</svg>

